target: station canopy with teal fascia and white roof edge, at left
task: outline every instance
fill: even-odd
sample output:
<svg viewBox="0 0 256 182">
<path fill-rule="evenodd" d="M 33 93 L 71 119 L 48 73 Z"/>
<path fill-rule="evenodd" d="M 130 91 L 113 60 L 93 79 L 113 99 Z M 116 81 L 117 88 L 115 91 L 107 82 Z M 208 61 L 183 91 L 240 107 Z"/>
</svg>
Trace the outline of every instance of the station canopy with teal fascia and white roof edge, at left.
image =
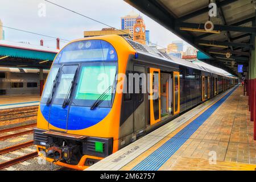
<svg viewBox="0 0 256 182">
<path fill-rule="evenodd" d="M 58 49 L 0 40 L 0 66 L 49 69 Z"/>
</svg>

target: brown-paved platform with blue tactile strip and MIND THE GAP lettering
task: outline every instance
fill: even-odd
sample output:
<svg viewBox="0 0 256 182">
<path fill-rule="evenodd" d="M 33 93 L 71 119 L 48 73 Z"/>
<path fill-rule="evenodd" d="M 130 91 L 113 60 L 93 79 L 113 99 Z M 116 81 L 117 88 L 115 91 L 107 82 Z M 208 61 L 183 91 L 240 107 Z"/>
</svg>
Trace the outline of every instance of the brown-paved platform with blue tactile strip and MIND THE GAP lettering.
<svg viewBox="0 0 256 182">
<path fill-rule="evenodd" d="M 86 170 L 256 170 L 248 97 L 237 86 Z"/>
</svg>

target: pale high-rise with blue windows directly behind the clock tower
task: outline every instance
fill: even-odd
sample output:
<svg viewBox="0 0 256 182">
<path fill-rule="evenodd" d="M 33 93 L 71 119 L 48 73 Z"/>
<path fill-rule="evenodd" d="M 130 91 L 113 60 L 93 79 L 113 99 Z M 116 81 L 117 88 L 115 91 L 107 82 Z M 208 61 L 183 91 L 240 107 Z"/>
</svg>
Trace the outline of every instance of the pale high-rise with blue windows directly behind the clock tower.
<svg viewBox="0 0 256 182">
<path fill-rule="evenodd" d="M 133 38 L 133 26 L 136 22 L 136 19 L 139 15 L 134 11 L 131 11 L 128 15 L 121 17 L 121 29 L 130 30 L 130 33 Z"/>
</svg>

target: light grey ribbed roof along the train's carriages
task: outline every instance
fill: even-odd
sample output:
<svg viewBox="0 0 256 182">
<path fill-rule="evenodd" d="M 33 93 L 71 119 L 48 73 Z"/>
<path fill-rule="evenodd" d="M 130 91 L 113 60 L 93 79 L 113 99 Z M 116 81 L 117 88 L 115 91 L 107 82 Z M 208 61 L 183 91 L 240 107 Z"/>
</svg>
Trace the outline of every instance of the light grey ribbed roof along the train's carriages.
<svg viewBox="0 0 256 182">
<path fill-rule="evenodd" d="M 214 73 L 214 74 L 220 75 L 220 76 L 236 78 L 236 77 L 230 75 L 228 72 L 225 72 L 223 69 L 213 67 L 212 65 L 203 63 L 202 61 L 194 61 L 194 62 L 187 61 L 184 59 L 180 59 L 178 57 L 170 56 L 167 53 L 160 52 L 160 51 L 158 51 L 158 49 L 154 49 L 154 48 L 148 47 L 146 45 L 139 44 L 137 42 L 134 42 L 133 40 L 130 40 L 127 38 L 125 38 L 125 39 L 135 49 L 135 51 L 137 51 L 138 53 L 141 53 L 143 55 L 156 57 L 158 59 L 168 61 L 168 62 L 171 62 L 174 64 L 179 64 L 179 65 L 183 65 L 185 67 L 199 69 L 201 71 Z"/>
</svg>

